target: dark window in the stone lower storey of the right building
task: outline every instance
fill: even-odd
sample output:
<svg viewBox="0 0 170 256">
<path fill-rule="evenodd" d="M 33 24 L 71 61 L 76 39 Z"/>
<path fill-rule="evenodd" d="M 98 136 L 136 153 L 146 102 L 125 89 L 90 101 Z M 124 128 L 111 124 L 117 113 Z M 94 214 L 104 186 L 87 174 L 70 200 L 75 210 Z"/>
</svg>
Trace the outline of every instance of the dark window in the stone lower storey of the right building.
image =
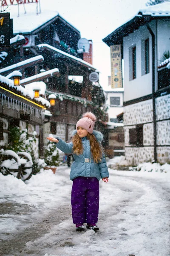
<svg viewBox="0 0 170 256">
<path fill-rule="evenodd" d="M 129 144 L 143 146 L 143 125 L 136 125 L 136 128 L 129 129 Z"/>
</svg>

